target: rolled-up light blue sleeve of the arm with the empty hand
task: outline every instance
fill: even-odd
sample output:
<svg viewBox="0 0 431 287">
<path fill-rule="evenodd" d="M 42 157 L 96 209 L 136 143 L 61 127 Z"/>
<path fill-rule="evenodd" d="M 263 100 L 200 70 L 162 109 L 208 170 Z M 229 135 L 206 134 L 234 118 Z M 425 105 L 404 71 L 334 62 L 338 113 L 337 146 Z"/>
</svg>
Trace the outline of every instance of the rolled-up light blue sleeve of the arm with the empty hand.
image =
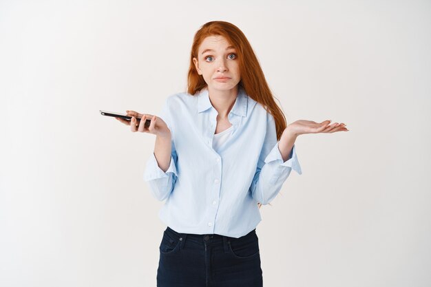
<svg viewBox="0 0 431 287">
<path fill-rule="evenodd" d="M 278 143 L 274 118 L 268 114 L 264 145 L 251 183 L 251 194 L 261 204 L 269 204 L 275 198 L 292 169 L 299 175 L 302 174 L 295 145 L 292 147 L 288 160 L 284 162 Z"/>
</svg>

